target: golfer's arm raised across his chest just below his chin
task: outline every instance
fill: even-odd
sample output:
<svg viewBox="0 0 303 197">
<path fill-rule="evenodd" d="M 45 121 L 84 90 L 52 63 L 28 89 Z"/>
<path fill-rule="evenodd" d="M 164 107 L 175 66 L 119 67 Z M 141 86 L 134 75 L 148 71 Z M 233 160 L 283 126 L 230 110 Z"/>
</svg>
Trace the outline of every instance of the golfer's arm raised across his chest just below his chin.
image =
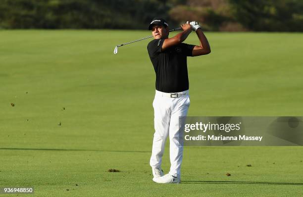
<svg viewBox="0 0 303 197">
<path fill-rule="evenodd" d="M 174 45 L 178 45 L 185 41 L 185 39 L 188 37 L 188 35 L 192 32 L 191 25 L 190 24 L 183 24 L 181 25 L 181 28 L 183 29 L 183 32 L 177 34 L 176 36 L 172 38 L 165 39 L 161 48 L 161 51 L 164 51 L 165 49 L 168 49 Z"/>
</svg>

